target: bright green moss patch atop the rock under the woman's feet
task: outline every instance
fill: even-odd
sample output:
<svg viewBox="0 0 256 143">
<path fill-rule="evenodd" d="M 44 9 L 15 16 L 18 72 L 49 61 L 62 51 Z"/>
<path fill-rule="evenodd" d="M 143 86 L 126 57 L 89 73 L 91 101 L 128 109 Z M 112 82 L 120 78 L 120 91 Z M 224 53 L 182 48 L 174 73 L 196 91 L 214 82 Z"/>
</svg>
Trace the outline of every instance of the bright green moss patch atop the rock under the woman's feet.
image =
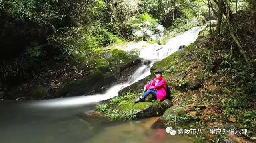
<svg viewBox="0 0 256 143">
<path fill-rule="evenodd" d="M 125 100 L 125 101 L 121 101 L 117 107 L 120 110 L 130 110 L 130 109 L 140 109 L 140 110 L 144 110 L 146 108 L 146 105 L 154 105 L 155 103 L 153 102 L 139 102 L 139 103 L 134 103 L 134 99 L 131 100 Z"/>
</svg>

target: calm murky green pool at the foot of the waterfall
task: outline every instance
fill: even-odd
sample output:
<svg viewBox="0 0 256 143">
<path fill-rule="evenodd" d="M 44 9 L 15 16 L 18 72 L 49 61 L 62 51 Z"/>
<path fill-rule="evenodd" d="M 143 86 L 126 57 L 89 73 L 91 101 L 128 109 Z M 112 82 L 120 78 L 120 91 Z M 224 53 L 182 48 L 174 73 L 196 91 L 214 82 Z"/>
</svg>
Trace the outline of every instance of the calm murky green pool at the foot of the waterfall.
<svg viewBox="0 0 256 143">
<path fill-rule="evenodd" d="M 32 101 L 33 102 L 33 101 Z M 31 102 L 0 102 L 0 143 L 192 143 L 167 134 L 158 118 L 102 122 L 80 115 L 95 105 L 36 107 Z"/>
</svg>

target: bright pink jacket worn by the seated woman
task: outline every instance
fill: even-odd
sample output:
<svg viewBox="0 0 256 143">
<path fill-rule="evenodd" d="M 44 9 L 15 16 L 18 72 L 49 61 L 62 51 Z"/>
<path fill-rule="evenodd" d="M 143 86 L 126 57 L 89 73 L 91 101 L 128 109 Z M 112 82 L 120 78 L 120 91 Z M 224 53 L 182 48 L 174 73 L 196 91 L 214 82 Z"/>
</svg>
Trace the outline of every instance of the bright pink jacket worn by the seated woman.
<svg viewBox="0 0 256 143">
<path fill-rule="evenodd" d="M 162 78 L 158 84 L 156 84 L 155 86 L 155 82 L 156 82 L 157 78 L 154 78 L 154 80 L 152 80 L 152 82 L 150 82 L 149 84 L 146 85 L 147 90 L 153 90 L 156 89 L 156 99 L 160 99 L 160 100 L 164 100 L 166 98 L 166 80 L 164 78 Z"/>
</svg>

